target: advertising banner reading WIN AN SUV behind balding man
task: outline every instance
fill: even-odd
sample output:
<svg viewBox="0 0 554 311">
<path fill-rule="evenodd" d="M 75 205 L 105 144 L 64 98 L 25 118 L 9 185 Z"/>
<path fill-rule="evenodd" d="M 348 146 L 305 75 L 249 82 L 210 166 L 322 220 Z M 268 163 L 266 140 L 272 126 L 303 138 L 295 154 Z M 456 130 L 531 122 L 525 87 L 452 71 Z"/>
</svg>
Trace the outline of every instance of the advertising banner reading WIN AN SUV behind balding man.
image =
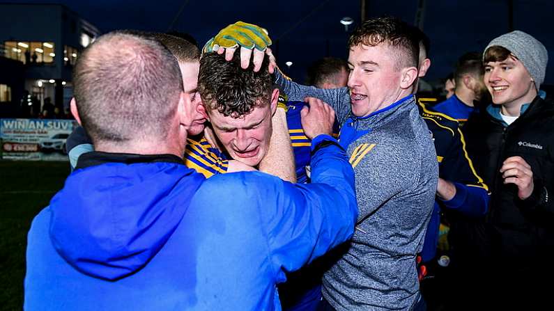
<svg viewBox="0 0 554 311">
<path fill-rule="evenodd" d="M 0 119 L 2 159 L 67 161 L 75 120 Z"/>
</svg>

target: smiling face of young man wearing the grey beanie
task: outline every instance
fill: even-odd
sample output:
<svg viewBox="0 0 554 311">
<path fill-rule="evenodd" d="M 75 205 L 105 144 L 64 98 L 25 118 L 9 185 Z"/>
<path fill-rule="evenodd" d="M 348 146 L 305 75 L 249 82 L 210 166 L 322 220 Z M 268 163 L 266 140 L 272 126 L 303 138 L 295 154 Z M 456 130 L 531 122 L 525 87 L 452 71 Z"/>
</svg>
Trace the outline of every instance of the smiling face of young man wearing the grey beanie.
<svg viewBox="0 0 554 311">
<path fill-rule="evenodd" d="M 486 63 L 484 82 L 493 103 L 503 106 L 528 104 L 537 95 L 529 72 L 514 56 L 508 56 L 505 61 Z"/>
</svg>

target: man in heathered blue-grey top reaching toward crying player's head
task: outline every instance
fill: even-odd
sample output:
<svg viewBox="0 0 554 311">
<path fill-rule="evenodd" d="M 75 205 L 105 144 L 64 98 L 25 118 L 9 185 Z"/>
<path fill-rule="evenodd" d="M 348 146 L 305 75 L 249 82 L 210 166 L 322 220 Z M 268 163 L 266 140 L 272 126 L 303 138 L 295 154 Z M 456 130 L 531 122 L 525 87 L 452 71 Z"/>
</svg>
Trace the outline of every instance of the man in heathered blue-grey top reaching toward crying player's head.
<svg viewBox="0 0 554 311">
<path fill-rule="evenodd" d="M 277 71 L 290 100 L 318 97 L 331 104 L 356 175 L 357 230 L 323 277 L 321 310 L 425 308 L 415 257 L 433 210 L 438 164 L 412 95 L 418 43 L 408 24 L 379 17 L 363 22 L 348 41 L 348 88 L 300 86 Z M 317 122 L 302 125 L 309 137 Z"/>
</svg>

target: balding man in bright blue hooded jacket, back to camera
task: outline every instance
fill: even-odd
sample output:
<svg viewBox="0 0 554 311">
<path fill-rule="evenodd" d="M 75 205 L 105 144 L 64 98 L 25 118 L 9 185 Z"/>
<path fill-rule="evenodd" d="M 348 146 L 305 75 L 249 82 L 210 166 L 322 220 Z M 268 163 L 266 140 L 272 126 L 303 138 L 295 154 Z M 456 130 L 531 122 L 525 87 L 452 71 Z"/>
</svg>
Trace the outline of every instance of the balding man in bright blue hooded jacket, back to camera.
<svg viewBox="0 0 554 311">
<path fill-rule="evenodd" d="M 95 152 L 33 220 L 26 310 L 279 310 L 285 272 L 351 237 L 353 170 L 321 134 L 331 122 L 311 127 L 314 184 L 205 180 L 183 165 L 195 107 L 160 43 L 103 35 L 74 81 L 72 113 Z M 306 120 L 327 109 L 315 103 Z"/>
</svg>

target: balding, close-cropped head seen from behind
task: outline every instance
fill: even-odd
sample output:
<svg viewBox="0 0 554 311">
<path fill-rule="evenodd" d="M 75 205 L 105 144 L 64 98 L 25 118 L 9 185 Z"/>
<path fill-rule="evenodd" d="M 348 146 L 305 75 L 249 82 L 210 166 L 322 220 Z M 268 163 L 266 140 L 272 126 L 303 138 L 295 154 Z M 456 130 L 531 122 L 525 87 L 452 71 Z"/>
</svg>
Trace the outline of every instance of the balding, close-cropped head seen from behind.
<svg viewBox="0 0 554 311">
<path fill-rule="evenodd" d="M 183 90 L 176 58 L 151 35 L 116 31 L 75 65 L 77 111 L 93 143 L 162 138 Z"/>
</svg>

